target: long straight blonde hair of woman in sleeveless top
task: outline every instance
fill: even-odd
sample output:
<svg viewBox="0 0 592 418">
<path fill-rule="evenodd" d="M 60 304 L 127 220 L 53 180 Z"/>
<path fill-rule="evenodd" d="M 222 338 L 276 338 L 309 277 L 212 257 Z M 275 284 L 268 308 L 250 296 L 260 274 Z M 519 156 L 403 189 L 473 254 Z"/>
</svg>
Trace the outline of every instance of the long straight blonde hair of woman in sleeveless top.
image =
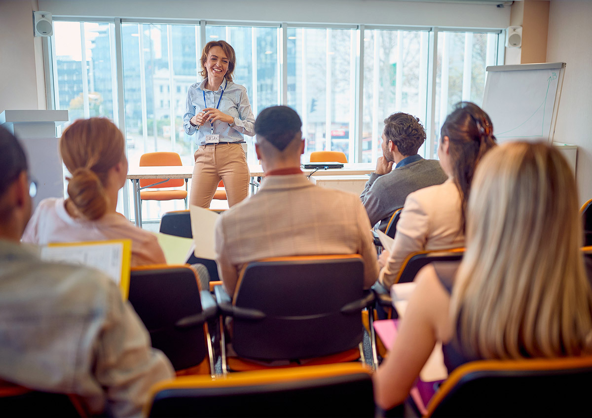
<svg viewBox="0 0 592 418">
<path fill-rule="evenodd" d="M 574 174 L 559 151 L 528 142 L 491 150 L 467 215 L 451 301 L 464 352 L 508 359 L 588 351 L 592 291 Z"/>
</svg>

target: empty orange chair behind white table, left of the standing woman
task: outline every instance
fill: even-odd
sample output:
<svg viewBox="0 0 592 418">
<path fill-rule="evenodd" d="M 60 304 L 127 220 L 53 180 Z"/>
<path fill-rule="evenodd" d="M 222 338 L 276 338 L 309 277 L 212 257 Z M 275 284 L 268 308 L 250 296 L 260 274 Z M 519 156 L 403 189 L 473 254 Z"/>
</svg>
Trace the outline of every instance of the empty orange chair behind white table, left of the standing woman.
<svg viewBox="0 0 592 418">
<path fill-rule="evenodd" d="M 140 157 L 140 167 L 182 166 L 181 157 L 177 153 L 147 153 Z M 185 190 L 142 190 L 142 189 L 171 189 L 182 187 Z M 187 209 L 187 179 L 140 179 L 140 211 L 141 200 L 175 200 L 184 199 Z M 141 212 L 140 212 L 141 213 Z"/>
</svg>

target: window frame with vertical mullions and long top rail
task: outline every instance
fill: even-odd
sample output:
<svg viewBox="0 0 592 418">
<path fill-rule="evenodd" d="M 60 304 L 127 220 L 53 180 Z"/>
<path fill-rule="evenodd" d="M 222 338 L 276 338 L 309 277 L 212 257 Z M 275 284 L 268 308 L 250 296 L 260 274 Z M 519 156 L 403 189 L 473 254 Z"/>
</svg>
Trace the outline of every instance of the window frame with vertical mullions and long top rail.
<svg viewBox="0 0 592 418">
<path fill-rule="evenodd" d="M 200 31 L 200 49 L 207 43 L 205 36 L 205 30 L 207 25 L 216 26 L 231 26 L 231 27 L 265 27 L 265 28 L 278 28 L 278 104 L 287 105 L 288 103 L 288 69 L 287 69 L 287 41 L 288 41 L 288 28 L 320 28 L 320 29 L 349 29 L 355 30 L 355 40 L 353 41 L 353 48 L 355 49 L 353 54 L 354 62 L 352 63 L 352 74 L 353 74 L 353 86 L 355 91 L 355 98 L 353 99 L 352 111 L 350 114 L 353 116 L 350 128 L 350 135 L 353 135 L 353 158 L 350 160 L 361 161 L 362 160 L 362 147 L 363 147 L 363 60 L 364 60 L 364 31 L 365 30 L 405 30 L 405 31 L 426 31 L 428 34 L 428 52 L 427 52 L 427 89 L 426 89 L 426 120 L 424 127 L 426 128 L 426 145 L 424 157 L 434 158 L 434 144 L 436 140 L 437 128 L 435 127 L 436 117 L 436 66 L 437 66 L 437 50 L 438 50 L 438 33 L 439 32 L 458 32 L 458 33 L 492 33 L 497 34 L 497 47 L 496 47 L 496 65 L 504 63 L 505 48 L 504 48 L 504 34 L 505 30 L 502 28 L 474 28 L 474 27 L 438 27 L 438 26 L 404 26 L 404 25 L 374 25 L 374 24 L 316 24 L 308 22 L 262 22 L 262 21 L 224 21 L 224 20 L 204 20 L 204 19 L 137 19 L 137 18 L 92 18 L 84 16 L 76 17 L 60 17 L 59 15 L 53 16 L 54 21 L 69 21 L 69 22 L 80 22 L 81 27 L 85 22 L 98 22 L 114 24 L 114 38 L 111 42 L 111 46 L 114 46 L 114 51 L 111 51 L 111 65 L 115 65 L 112 68 L 112 77 L 115 77 L 113 83 L 113 101 L 114 101 L 114 119 L 115 124 L 121 129 L 126 135 L 126 123 L 125 123 L 125 103 L 120 98 L 124 95 L 123 85 L 123 55 L 122 55 L 122 38 L 121 38 L 121 25 L 125 23 L 133 24 L 163 24 L 163 25 L 195 25 L 197 30 Z M 54 37 L 43 38 L 43 61 L 44 61 L 44 72 L 46 79 L 46 99 L 47 108 L 56 109 L 56 98 L 58 98 L 58 92 L 54 89 L 54 78 L 57 77 L 57 68 L 55 63 L 54 51 Z M 84 48 L 83 48 L 84 49 Z M 170 52 L 169 52 L 170 53 Z M 199 56 L 200 51 L 196 51 Z M 115 89 L 117 87 L 117 89 Z M 171 89 L 172 91 L 172 89 Z M 171 102 L 172 103 L 172 102 Z M 115 107 L 115 105 L 117 105 Z M 116 111 L 117 109 L 117 111 Z M 327 121 L 330 126 L 330 121 Z M 352 147 L 350 147 L 352 150 Z M 126 147 L 127 154 L 127 147 Z M 129 196 L 128 183 L 124 185 L 123 196 Z M 129 217 L 130 215 L 130 202 L 128 199 L 123 199 L 124 214 Z"/>
</svg>

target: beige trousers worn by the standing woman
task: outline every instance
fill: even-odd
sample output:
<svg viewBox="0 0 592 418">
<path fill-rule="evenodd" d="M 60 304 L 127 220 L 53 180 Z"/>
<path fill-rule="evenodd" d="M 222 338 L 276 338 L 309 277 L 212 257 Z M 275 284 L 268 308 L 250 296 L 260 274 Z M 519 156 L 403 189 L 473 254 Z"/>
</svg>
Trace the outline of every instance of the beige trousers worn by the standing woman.
<svg viewBox="0 0 592 418">
<path fill-rule="evenodd" d="M 210 208 L 220 180 L 224 182 L 228 205 L 236 205 L 249 193 L 249 166 L 240 144 L 207 144 L 195 151 L 189 203 Z"/>
</svg>

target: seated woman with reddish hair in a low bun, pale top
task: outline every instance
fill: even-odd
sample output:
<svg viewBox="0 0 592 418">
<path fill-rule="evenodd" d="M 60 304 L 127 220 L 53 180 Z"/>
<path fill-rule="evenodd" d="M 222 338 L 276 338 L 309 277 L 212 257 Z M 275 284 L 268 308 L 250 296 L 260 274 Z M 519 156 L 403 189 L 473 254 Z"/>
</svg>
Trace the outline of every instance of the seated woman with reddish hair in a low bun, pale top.
<svg viewBox="0 0 592 418">
<path fill-rule="evenodd" d="M 78 119 L 60 138 L 60 154 L 71 176 L 68 198 L 44 199 L 33 213 L 23 242 L 131 239 L 131 265 L 166 263 L 156 236 L 115 212 L 126 183 L 127 158 L 121 131 L 107 118 Z"/>
</svg>

